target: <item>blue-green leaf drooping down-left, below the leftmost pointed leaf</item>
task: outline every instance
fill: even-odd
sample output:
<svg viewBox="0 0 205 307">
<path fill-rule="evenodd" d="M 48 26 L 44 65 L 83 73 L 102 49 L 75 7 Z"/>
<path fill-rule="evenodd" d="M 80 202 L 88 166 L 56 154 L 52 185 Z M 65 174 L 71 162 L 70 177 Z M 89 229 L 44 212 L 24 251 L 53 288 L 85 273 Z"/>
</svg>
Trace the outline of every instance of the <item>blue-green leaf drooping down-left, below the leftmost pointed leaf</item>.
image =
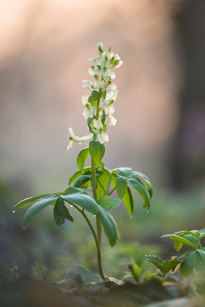
<svg viewBox="0 0 205 307">
<path fill-rule="evenodd" d="M 49 198 L 39 200 L 35 204 L 33 204 L 26 212 L 25 216 L 23 217 L 23 228 L 25 229 L 27 227 L 32 217 L 36 216 L 37 213 L 39 213 L 42 209 L 44 209 L 48 205 L 56 203 L 58 198 L 59 198 L 58 196 L 52 195 Z"/>
</svg>

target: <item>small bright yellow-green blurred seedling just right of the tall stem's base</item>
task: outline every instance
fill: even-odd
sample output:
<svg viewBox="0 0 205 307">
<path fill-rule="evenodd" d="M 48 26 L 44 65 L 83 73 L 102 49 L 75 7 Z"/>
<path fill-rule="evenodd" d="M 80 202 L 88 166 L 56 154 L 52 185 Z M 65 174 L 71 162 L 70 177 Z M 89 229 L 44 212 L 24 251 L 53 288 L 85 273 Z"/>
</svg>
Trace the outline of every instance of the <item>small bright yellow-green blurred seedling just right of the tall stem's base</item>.
<svg viewBox="0 0 205 307">
<path fill-rule="evenodd" d="M 135 262 L 135 259 L 131 257 L 132 264 L 128 265 L 130 272 L 123 277 L 122 281 L 126 282 L 130 278 L 134 278 L 137 284 L 147 281 L 148 279 L 154 277 L 156 273 L 151 273 L 151 268 L 147 268 L 147 261 L 143 261 L 140 266 Z"/>
</svg>

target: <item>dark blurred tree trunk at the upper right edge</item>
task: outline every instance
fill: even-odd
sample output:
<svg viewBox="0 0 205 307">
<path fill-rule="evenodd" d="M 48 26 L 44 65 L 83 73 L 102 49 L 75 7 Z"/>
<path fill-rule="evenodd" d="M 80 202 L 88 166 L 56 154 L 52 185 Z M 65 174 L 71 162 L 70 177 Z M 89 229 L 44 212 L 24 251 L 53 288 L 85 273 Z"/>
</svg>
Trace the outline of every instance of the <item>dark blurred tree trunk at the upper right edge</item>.
<svg viewBox="0 0 205 307">
<path fill-rule="evenodd" d="M 205 1 L 185 0 L 177 21 L 185 78 L 171 172 L 173 187 L 182 190 L 205 175 Z"/>
</svg>

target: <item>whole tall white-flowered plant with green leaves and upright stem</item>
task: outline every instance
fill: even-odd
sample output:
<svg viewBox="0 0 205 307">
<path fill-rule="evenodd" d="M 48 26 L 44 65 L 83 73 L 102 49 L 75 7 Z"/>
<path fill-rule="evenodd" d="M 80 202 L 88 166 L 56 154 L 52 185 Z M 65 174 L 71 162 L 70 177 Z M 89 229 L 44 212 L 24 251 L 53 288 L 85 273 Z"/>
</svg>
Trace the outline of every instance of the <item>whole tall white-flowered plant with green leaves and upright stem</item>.
<svg viewBox="0 0 205 307">
<path fill-rule="evenodd" d="M 113 103 L 117 98 L 117 87 L 112 84 L 115 74 L 110 69 L 120 67 L 122 61 L 118 54 L 109 53 L 111 47 L 108 51 L 104 51 L 102 43 L 98 43 L 97 49 L 99 57 L 89 59 L 96 64 L 89 68 L 89 74 L 94 78 L 94 81 L 83 80 L 84 83 L 89 84 L 83 84 L 83 87 L 91 91 L 90 96 L 82 96 L 82 103 L 85 106 L 83 116 L 87 119 L 90 134 L 77 137 L 73 134 L 72 128 L 69 128 L 68 150 L 72 147 L 73 142 L 79 144 L 85 142 L 88 145 L 86 141 L 93 138 L 88 147 L 83 148 L 78 154 L 77 166 L 79 170 L 69 180 L 69 185 L 73 183 L 73 186 L 69 186 L 62 193 L 41 194 L 22 200 L 13 210 L 34 203 L 23 218 L 23 227 L 26 228 L 31 218 L 48 205 L 54 207 L 54 219 L 58 226 L 63 224 L 65 219 L 73 222 L 73 218 L 65 206 L 65 201 L 75 207 L 83 215 L 92 231 L 97 247 L 98 270 L 101 278 L 104 279 L 101 256 L 102 228 L 104 228 L 104 233 L 111 247 L 115 245 L 116 240 L 119 241 L 116 222 L 108 209 L 116 208 L 121 203 L 120 199 L 123 199 L 128 213 L 132 216 L 133 198 L 128 183 L 144 198 L 143 208 L 148 207 L 149 209 L 152 185 L 142 173 L 133 172 L 128 167 L 110 170 L 104 167 L 104 163 L 101 161 L 105 153 L 103 143 L 108 142 L 108 134 L 105 132 L 107 127 L 104 122 L 108 117 L 110 119 L 109 125 L 115 126 L 116 124 L 116 119 L 112 114 L 115 111 Z M 91 166 L 85 167 L 89 155 L 91 156 Z M 111 196 L 115 190 L 119 199 Z M 96 217 L 97 233 L 85 210 Z"/>
</svg>

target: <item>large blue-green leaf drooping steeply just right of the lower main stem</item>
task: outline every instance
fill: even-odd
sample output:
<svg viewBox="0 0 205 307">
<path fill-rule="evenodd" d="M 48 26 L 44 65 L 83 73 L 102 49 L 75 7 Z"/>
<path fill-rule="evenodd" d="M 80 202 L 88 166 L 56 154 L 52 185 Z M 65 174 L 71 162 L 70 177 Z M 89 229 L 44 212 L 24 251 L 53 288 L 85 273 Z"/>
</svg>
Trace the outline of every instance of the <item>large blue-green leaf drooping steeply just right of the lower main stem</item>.
<svg viewBox="0 0 205 307">
<path fill-rule="evenodd" d="M 97 215 L 100 223 L 103 225 L 104 233 L 108 238 L 110 246 L 114 246 L 117 240 L 117 225 L 109 211 L 97 205 L 99 212 Z"/>
</svg>

